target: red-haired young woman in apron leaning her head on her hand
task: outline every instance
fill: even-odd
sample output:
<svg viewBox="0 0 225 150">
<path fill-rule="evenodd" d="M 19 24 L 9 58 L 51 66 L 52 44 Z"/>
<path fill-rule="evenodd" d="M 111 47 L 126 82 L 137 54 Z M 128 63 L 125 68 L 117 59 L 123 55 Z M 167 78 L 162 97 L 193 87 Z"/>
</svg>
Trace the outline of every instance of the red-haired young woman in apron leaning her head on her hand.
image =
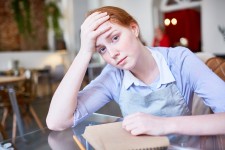
<svg viewBox="0 0 225 150">
<path fill-rule="evenodd" d="M 108 65 L 80 90 L 92 55 Z M 47 125 L 63 130 L 111 100 L 133 135 L 225 134 L 225 83 L 184 47 L 146 47 L 136 20 L 106 6 L 91 11 L 81 26 L 81 48 L 51 101 Z M 193 94 L 214 114 L 191 116 Z"/>
</svg>

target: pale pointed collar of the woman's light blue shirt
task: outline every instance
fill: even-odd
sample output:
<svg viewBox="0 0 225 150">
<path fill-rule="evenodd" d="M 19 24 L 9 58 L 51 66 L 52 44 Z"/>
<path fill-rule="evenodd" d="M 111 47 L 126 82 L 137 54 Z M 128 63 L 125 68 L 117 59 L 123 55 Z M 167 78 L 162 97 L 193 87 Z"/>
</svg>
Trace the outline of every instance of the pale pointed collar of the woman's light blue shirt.
<svg viewBox="0 0 225 150">
<path fill-rule="evenodd" d="M 152 53 L 152 56 L 155 59 L 160 72 L 159 80 L 158 80 L 156 88 L 159 88 L 162 84 L 168 84 L 168 83 L 174 82 L 175 79 L 169 67 L 167 66 L 167 63 L 163 55 L 156 50 L 151 50 L 150 48 L 148 49 Z M 137 79 L 130 71 L 124 70 L 123 85 L 125 89 L 128 89 L 132 84 L 134 84 L 135 86 L 148 86 L 144 84 L 142 81 L 140 81 L 139 79 Z"/>
</svg>

